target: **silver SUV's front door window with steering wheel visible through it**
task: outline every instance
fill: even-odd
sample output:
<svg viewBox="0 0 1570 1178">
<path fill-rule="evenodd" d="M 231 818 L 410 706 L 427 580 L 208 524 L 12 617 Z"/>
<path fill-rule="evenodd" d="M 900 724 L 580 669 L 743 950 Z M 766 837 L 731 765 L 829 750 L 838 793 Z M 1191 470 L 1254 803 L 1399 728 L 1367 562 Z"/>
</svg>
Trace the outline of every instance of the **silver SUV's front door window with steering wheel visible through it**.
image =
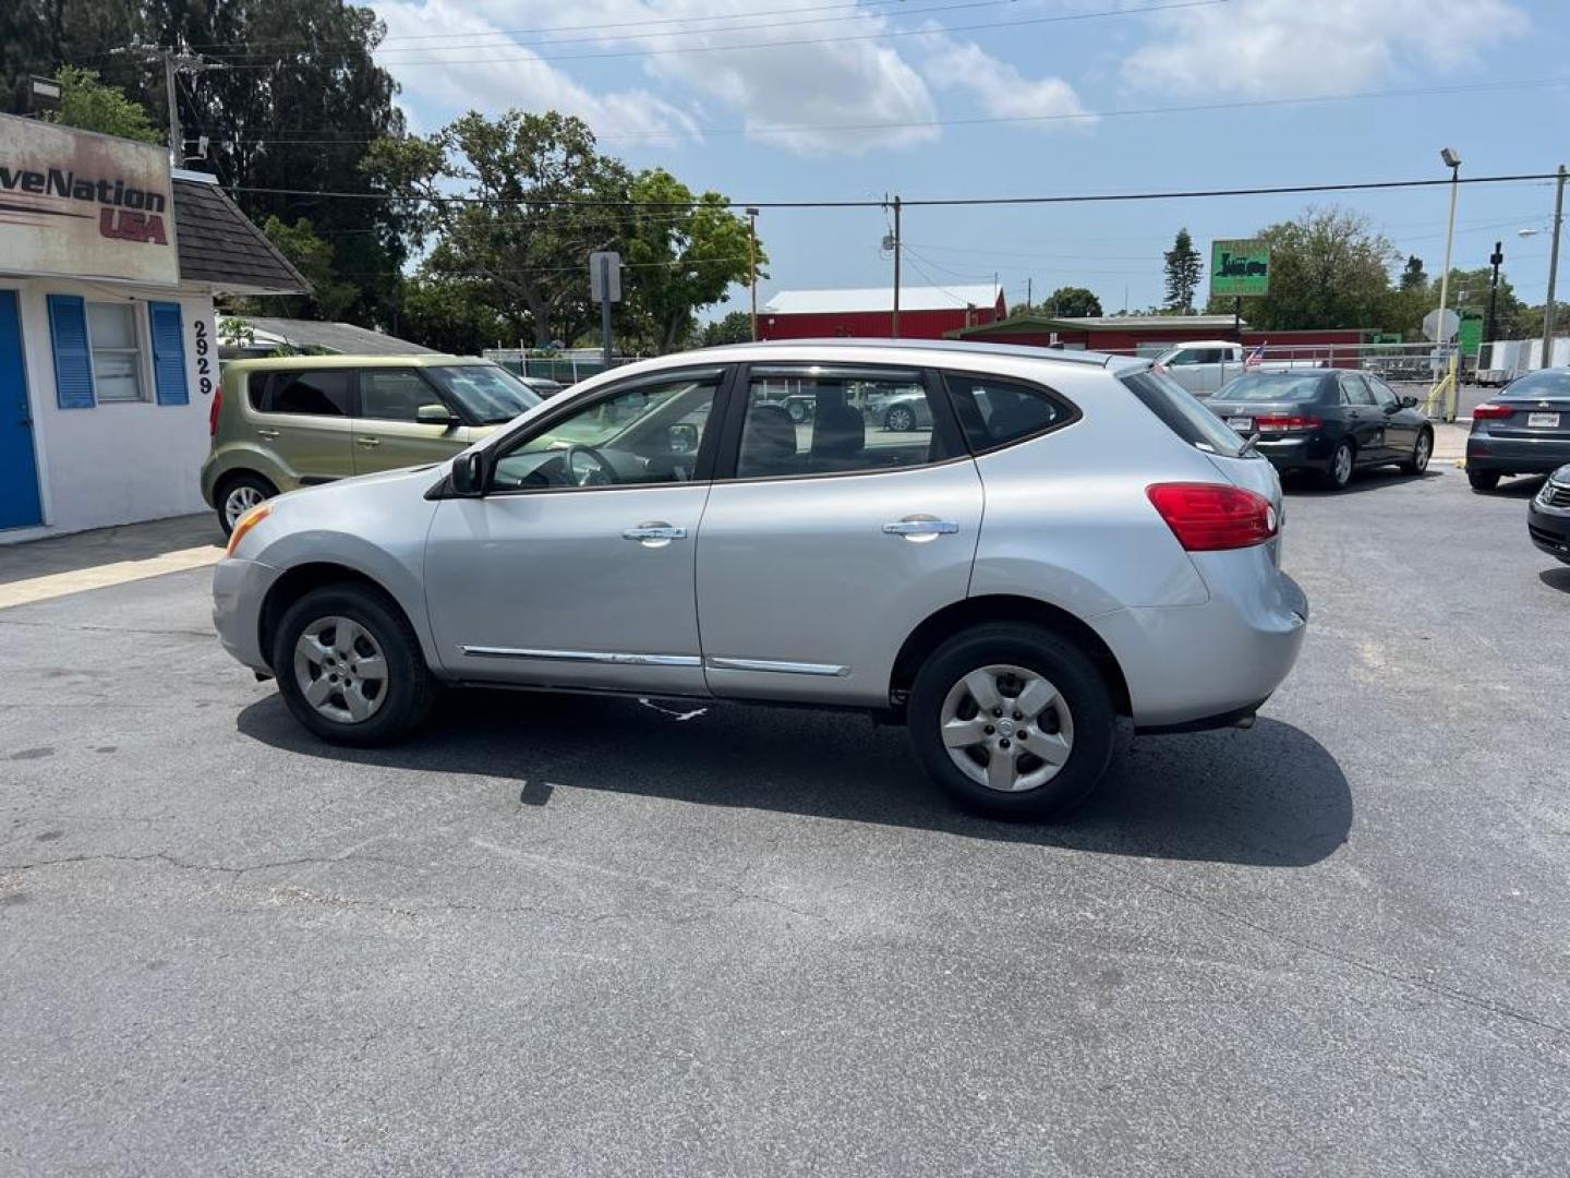
<svg viewBox="0 0 1570 1178">
<path fill-rule="evenodd" d="M 689 482 L 714 416 L 719 375 L 667 379 L 600 397 L 509 441 L 491 490 Z"/>
</svg>

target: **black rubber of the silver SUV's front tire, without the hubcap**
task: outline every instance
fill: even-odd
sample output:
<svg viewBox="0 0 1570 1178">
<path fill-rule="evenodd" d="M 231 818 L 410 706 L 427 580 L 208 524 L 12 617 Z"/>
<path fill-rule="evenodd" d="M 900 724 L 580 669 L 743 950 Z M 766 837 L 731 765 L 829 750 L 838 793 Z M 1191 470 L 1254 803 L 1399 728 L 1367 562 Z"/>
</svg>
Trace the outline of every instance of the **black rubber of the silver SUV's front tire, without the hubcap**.
<svg viewBox="0 0 1570 1178">
<path fill-rule="evenodd" d="M 301 635 L 328 617 L 347 617 L 364 627 L 382 649 L 386 664 L 386 677 L 377 693 L 382 701 L 369 718 L 358 723 L 334 721 L 317 712 L 305 697 L 295 669 L 295 646 Z M 278 691 L 295 719 L 333 744 L 392 744 L 419 727 L 436 697 L 436 683 L 425 666 L 419 638 L 403 611 L 383 591 L 353 581 L 312 589 L 284 611 L 273 633 L 272 666 Z"/>
</svg>

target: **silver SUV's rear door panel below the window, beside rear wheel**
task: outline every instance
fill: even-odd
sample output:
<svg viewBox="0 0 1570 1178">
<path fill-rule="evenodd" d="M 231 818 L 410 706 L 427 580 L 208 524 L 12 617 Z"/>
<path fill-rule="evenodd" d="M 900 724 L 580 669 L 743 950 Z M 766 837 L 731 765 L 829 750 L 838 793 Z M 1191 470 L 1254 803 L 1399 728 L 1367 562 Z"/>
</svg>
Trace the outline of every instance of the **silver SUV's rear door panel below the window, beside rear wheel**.
<svg viewBox="0 0 1570 1178">
<path fill-rule="evenodd" d="M 964 598 L 980 531 L 970 459 L 714 484 L 697 545 L 710 690 L 887 704 L 906 636 Z"/>
</svg>

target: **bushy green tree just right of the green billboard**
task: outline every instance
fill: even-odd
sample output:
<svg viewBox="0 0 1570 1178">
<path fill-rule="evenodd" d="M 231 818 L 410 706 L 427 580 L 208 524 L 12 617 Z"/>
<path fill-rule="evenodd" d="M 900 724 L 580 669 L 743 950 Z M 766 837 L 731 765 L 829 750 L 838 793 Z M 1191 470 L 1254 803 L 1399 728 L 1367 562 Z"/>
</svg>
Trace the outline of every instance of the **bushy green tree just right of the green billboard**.
<svg viewBox="0 0 1570 1178">
<path fill-rule="evenodd" d="M 1389 267 L 1400 254 L 1361 214 L 1311 207 L 1254 237 L 1270 245 L 1270 294 L 1243 300 L 1250 327 L 1375 327 L 1389 311 Z M 1206 309 L 1226 314 L 1232 300 L 1212 298 Z"/>
</svg>

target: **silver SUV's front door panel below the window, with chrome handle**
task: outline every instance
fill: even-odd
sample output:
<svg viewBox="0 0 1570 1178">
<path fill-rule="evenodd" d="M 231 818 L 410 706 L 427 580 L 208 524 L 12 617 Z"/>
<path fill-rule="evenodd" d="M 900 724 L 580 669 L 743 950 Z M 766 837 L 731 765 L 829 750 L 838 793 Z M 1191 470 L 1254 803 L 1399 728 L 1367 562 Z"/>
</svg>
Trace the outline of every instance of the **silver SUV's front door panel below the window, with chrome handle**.
<svg viewBox="0 0 1570 1178">
<path fill-rule="evenodd" d="M 444 501 L 425 542 L 443 666 L 474 680 L 705 694 L 692 578 L 708 493 L 686 482 Z M 670 531 L 639 539 L 639 528 Z"/>
</svg>

